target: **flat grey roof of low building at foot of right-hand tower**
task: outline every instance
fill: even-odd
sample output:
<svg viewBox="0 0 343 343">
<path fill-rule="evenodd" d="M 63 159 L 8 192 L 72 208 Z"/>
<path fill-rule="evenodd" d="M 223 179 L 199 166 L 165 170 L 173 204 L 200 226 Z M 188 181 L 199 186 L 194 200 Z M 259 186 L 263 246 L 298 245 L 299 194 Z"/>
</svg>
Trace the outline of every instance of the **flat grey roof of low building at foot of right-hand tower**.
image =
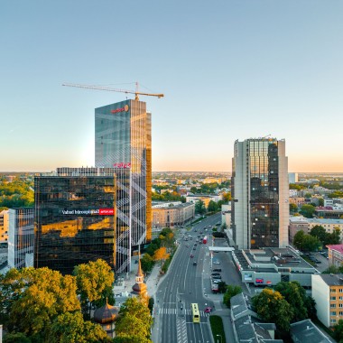
<svg viewBox="0 0 343 343">
<path fill-rule="evenodd" d="M 242 255 L 238 257 L 238 261 L 241 262 L 243 258 L 246 259 L 246 263 L 241 264 L 242 268 L 258 269 L 259 272 L 276 272 L 276 269 L 271 267 L 270 264 L 273 264 L 276 268 L 301 268 L 315 271 L 311 264 L 308 264 L 288 247 L 246 249 L 242 250 Z"/>
</svg>

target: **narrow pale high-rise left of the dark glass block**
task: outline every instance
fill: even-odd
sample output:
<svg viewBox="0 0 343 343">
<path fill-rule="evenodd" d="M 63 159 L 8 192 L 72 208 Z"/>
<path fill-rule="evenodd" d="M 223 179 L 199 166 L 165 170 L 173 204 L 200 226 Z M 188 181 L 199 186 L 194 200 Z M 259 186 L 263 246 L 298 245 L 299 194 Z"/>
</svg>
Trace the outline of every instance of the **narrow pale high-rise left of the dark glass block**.
<svg viewBox="0 0 343 343">
<path fill-rule="evenodd" d="M 8 210 L 8 265 L 21 269 L 33 266 L 34 208 Z"/>
</svg>

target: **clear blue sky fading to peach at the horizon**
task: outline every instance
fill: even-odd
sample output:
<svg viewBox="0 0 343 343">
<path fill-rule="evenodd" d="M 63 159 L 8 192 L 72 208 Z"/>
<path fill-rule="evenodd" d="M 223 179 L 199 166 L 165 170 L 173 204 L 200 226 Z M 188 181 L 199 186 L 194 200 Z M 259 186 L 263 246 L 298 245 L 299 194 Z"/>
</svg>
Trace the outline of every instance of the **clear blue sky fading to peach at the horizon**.
<svg viewBox="0 0 343 343">
<path fill-rule="evenodd" d="M 0 172 L 94 165 L 94 109 L 164 93 L 153 171 L 230 172 L 234 143 L 286 141 L 290 172 L 343 172 L 343 1 L 3 0 Z"/>
</svg>

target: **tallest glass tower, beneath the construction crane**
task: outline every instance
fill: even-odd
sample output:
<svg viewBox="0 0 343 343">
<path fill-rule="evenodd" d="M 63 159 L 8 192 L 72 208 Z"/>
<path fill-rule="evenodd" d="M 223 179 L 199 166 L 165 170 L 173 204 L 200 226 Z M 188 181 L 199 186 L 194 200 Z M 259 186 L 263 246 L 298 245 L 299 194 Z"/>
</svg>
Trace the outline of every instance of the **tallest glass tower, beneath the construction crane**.
<svg viewBox="0 0 343 343">
<path fill-rule="evenodd" d="M 129 173 L 130 215 L 117 216 L 129 227 L 130 251 L 138 250 L 152 235 L 152 125 L 146 103 L 125 100 L 96 108 L 95 134 L 96 167 Z"/>
</svg>

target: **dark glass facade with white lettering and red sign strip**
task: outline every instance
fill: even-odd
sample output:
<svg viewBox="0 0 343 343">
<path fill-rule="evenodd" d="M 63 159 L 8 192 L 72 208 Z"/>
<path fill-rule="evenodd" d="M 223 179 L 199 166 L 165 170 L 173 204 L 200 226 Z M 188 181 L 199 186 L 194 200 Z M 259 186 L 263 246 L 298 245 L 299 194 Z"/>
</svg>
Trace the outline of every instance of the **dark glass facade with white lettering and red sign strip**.
<svg viewBox="0 0 343 343">
<path fill-rule="evenodd" d="M 115 177 L 41 176 L 34 188 L 34 266 L 67 274 L 101 258 L 115 269 Z"/>
</svg>

